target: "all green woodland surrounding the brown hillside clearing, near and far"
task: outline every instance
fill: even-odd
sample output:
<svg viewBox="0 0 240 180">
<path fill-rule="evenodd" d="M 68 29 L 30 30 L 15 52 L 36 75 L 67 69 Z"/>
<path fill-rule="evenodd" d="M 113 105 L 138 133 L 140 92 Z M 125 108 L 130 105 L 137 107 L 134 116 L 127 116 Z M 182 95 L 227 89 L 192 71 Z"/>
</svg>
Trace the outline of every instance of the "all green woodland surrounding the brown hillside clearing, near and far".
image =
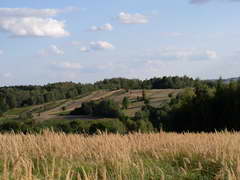
<svg viewBox="0 0 240 180">
<path fill-rule="evenodd" d="M 9 108 L 42 104 L 65 98 L 74 98 L 98 89 L 142 89 L 144 105 L 133 117 L 124 114 L 131 103 L 127 97 L 118 104 L 113 100 L 84 102 L 71 115 L 111 118 L 104 121 L 69 121 L 68 123 L 36 125 L 27 116 L 26 121 L 0 124 L 2 132 L 40 132 L 44 128 L 66 133 L 112 133 L 128 132 L 213 132 L 221 130 L 240 130 L 240 82 L 224 83 L 194 80 L 188 77 L 163 77 L 150 80 L 129 80 L 114 78 L 94 84 L 56 83 L 46 86 L 16 86 L 0 89 L 0 108 L 5 112 Z M 145 89 L 181 88 L 178 95 L 169 94 L 170 100 L 153 107 L 145 95 Z M 24 119 L 24 118 L 23 118 Z"/>
</svg>

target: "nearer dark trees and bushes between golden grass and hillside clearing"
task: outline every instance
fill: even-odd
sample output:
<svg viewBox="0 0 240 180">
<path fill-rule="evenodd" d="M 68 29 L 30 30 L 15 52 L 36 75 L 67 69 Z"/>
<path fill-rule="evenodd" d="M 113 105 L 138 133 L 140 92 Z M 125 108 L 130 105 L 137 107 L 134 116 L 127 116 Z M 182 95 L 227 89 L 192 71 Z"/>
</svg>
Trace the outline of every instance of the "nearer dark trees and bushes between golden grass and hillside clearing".
<svg viewBox="0 0 240 180">
<path fill-rule="evenodd" d="M 143 91 L 144 96 L 144 91 Z M 129 132 L 214 132 L 222 130 L 240 130 L 240 82 L 223 83 L 215 86 L 197 84 L 194 88 L 185 88 L 176 96 L 171 96 L 168 103 L 153 107 L 147 97 L 139 99 L 144 105 L 133 117 L 124 114 L 129 99 L 122 104 L 113 100 L 85 102 L 81 108 L 71 112 L 74 115 L 107 117 L 108 120 L 68 121 L 54 125 L 34 125 L 33 121 L 7 122 L 0 124 L 4 131 L 39 132 L 44 128 L 66 133 L 89 133 L 100 131 L 112 133 Z"/>
</svg>

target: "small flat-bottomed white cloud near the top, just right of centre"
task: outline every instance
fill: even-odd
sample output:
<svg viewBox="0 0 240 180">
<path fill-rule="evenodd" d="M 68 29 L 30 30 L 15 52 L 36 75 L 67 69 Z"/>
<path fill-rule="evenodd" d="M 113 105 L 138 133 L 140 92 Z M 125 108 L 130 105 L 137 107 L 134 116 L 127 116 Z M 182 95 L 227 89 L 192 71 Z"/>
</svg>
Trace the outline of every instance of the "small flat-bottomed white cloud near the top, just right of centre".
<svg viewBox="0 0 240 180">
<path fill-rule="evenodd" d="M 148 17 L 139 13 L 129 14 L 121 12 L 117 19 L 123 24 L 146 24 L 148 23 Z"/>
</svg>

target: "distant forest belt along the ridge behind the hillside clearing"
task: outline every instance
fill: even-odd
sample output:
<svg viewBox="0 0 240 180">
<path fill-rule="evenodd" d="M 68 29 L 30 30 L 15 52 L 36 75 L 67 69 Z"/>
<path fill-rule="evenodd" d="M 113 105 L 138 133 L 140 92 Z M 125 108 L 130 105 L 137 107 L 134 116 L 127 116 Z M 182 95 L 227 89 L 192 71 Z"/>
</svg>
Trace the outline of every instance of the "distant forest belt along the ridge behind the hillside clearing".
<svg viewBox="0 0 240 180">
<path fill-rule="evenodd" d="M 183 77 L 161 77 L 148 80 L 112 78 L 93 84 L 73 82 L 53 83 L 44 86 L 11 86 L 0 88 L 0 114 L 8 109 L 43 104 L 55 100 L 69 99 L 98 89 L 180 89 L 203 83 L 198 79 Z M 210 84 L 213 84 L 211 82 Z"/>
</svg>

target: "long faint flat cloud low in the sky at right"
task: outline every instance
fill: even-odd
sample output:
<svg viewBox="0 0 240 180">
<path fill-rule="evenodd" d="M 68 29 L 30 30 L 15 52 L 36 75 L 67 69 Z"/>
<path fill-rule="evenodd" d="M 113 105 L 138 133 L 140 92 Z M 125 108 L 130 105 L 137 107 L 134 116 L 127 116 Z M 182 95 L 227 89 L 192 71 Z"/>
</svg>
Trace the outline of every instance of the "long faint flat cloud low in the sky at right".
<svg viewBox="0 0 240 180">
<path fill-rule="evenodd" d="M 164 48 L 157 52 L 148 52 L 150 60 L 212 60 L 218 57 L 214 50 Z"/>
</svg>

